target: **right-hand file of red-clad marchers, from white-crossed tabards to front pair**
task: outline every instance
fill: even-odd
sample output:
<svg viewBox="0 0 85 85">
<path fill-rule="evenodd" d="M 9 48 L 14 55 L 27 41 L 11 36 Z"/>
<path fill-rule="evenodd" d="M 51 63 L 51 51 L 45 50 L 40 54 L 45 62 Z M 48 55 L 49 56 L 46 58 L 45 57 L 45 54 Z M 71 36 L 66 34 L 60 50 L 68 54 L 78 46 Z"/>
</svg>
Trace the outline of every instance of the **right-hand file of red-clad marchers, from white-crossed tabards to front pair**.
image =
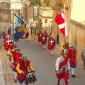
<svg viewBox="0 0 85 85">
<path fill-rule="evenodd" d="M 38 42 L 43 48 L 48 48 L 51 55 L 54 55 L 54 48 L 56 41 L 54 36 L 51 34 L 48 36 L 46 30 L 38 33 Z M 65 85 L 68 85 L 69 76 L 75 78 L 75 68 L 77 65 L 76 59 L 76 48 L 69 46 L 69 43 L 63 45 L 63 49 L 60 52 L 60 56 L 56 60 L 56 77 L 58 79 L 57 85 L 60 85 L 60 80 L 64 79 Z"/>
</svg>

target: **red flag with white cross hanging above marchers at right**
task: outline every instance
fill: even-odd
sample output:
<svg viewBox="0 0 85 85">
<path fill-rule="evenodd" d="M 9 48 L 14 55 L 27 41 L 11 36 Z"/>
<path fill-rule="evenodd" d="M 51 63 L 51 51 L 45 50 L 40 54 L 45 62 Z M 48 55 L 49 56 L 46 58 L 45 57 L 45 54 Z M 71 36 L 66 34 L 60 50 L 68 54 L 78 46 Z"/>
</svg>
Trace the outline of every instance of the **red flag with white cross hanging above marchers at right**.
<svg viewBox="0 0 85 85">
<path fill-rule="evenodd" d="M 64 12 L 59 13 L 55 16 L 55 22 L 59 26 L 59 32 L 62 33 L 63 36 L 66 38 L 68 36 L 68 32 L 67 32 Z"/>
</svg>

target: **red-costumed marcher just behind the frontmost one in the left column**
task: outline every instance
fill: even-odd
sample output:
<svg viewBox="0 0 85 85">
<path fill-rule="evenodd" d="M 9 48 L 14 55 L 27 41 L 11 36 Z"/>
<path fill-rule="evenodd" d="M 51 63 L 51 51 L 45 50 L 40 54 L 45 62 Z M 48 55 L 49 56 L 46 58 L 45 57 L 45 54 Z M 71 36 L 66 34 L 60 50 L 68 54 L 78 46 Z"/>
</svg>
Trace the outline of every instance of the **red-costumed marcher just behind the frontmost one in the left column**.
<svg viewBox="0 0 85 85">
<path fill-rule="evenodd" d="M 20 49 L 13 48 L 10 51 L 10 61 L 11 61 L 12 72 L 14 75 L 14 82 L 17 82 L 17 73 L 18 73 L 17 64 L 21 59 L 22 59 L 22 54 L 20 53 Z"/>
</svg>

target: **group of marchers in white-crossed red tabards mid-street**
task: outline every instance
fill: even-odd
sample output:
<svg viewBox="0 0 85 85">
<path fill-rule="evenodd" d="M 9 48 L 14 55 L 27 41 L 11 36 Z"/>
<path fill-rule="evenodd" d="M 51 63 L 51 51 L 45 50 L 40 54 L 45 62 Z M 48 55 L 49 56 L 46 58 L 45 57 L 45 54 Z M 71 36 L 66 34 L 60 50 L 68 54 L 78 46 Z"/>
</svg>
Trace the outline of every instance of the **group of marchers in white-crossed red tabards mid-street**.
<svg viewBox="0 0 85 85">
<path fill-rule="evenodd" d="M 41 44 L 43 48 L 46 48 L 47 46 L 49 53 L 51 55 L 54 55 L 54 48 L 55 48 L 56 42 L 52 34 L 48 35 L 46 30 L 42 32 L 40 31 L 38 33 L 38 42 Z"/>
</svg>

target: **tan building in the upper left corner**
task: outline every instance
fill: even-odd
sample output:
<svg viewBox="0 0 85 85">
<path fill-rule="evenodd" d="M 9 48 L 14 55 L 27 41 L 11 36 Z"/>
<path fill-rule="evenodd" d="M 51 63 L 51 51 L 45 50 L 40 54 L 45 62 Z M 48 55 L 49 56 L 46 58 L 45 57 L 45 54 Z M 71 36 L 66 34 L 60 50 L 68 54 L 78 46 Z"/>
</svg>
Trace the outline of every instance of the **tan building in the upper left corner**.
<svg viewBox="0 0 85 85">
<path fill-rule="evenodd" d="M 7 31 L 10 25 L 9 0 L 0 0 L 0 31 Z"/>
</svg>

